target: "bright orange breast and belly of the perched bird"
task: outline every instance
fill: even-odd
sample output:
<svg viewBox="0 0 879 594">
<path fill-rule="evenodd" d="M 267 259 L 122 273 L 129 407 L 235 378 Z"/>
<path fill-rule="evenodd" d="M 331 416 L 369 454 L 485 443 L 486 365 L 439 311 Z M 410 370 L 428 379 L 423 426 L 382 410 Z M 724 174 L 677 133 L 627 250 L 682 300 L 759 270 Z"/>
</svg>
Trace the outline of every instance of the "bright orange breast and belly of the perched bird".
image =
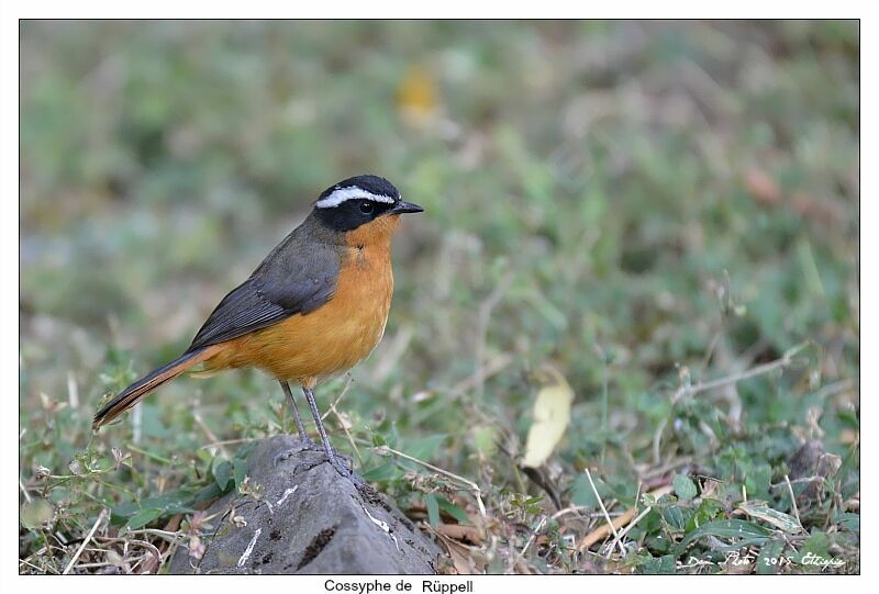
<svg viewBox="0 0 879 594">
<path fill-rule="evenodd" d="M 311 388 L 372 351 L 385 334 L 392 295 L 390 250 L 348 247 L 329 302 L 308 315 L 223 343 L 224 348 L 205 361 L 205 370 L 256 367 Z"/>
</svg>

